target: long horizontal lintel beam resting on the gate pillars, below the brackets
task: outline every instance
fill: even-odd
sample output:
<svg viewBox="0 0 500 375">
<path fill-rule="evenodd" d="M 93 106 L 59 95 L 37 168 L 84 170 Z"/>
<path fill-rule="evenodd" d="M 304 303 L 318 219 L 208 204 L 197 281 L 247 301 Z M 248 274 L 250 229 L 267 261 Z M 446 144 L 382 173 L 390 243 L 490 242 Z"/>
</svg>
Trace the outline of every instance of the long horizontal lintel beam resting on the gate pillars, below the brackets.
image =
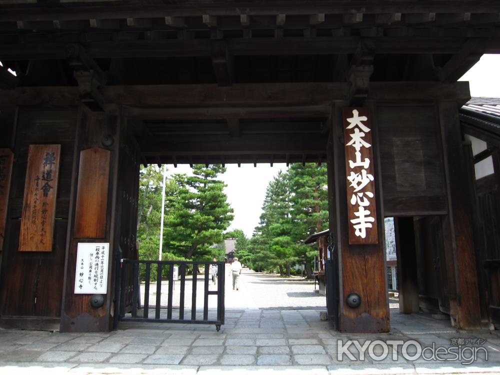
<svg viewBox="0 0 500 375">
<path fill-rule="evenodd" d="M 258 90 L 256 89 L 258 87 Z M 411 87 L 411 89 L 408 89 Z M 219 87 L 216 84 L 199 85 L 130 85 L 104 86 L 102 94 L 107 103 L 124 106 L 142 105 L 143 113 L 152 114 L 152 118 L 161 118 L 163 108 L 172 114 L 189 113 L 190 108 L 198 108 L 199 117 L 208 113 L 211 118 L 242 118 L 261 110 L 260 117 L 279 113 L 278 117 L 306 117 L 307 114 L 323 116 L 324 107 L 335 100 L 346 100 L 349 85 L 347 83 L 257 83 L 234 84 Z M 140 103 L 137 98 L 140 97 Z M 456 100 L 465 102 L 470 98 L 468 82 L 371 82 L 369 98 L 392 101 L 432 101 Z M 78 87 L 40 86 L 17 87 L 14 90 L 0 89 L 0 105 L 46 105 L 76 106 L 79 103 Z M 287 109 L 288 108 L 288 109 Z M 295 109 L 294 109 L 295 108 Z M 210 109 L 226 110 L 229 117 L 213 117 Z M 303 110 L 302 115 L 300 115 Z M 133 107 L 131 112 L 139 114 L 141 108 Z M 324 117 L 328 117 L 329 110 Z M 192 116 L 188 116 L 193 118 Z M 251 118 L 252 116 L 248 116 Z M 259 117 L 259 116 L 254 116 Z M 173 119 L 179 119 L 174 117 Z"/>
</svg>

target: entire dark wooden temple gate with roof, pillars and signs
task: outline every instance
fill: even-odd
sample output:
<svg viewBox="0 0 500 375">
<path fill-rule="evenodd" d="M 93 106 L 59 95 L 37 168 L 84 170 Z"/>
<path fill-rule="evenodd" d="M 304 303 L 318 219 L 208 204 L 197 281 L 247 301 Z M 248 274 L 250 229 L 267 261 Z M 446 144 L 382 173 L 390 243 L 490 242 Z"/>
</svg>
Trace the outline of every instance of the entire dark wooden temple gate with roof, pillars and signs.
<svg viewBox="0 0 500 375">
<path fill-rule="evenodd" d="M 3 324 L 111 329 L 116 250 L 137 256 L 141 163 L 263 162 L 327 162 L 336 329 L 389 330 L 384 216 L 396 217 L 401 311 L 418 311 L 418 273 L 428 271 L 437 308 L 461 328 L 481 324 L 458 117 L 469 90 L 456 80 L 481 54 L 500 52 L 500 4 L 23 2 L 0 5 L 0 148 L 12 161 L 1 169 Z M 371 153 L 350 164 L 357 155 L 347 147 L 362 129 L 347 132 L 354 110 L 369 122 Z M 35 196 L 36 178 L 49 189 L 53 172 L 31 145 L 49 155 L 60 146 L 52 198 Z M 364 196 L 347 178 L 362 171 L 372 176 Z M 352 211 L 356 199 L 369 203 L 377 228 L 366 236 L 351 225 L 365 207 Z M 53 214 L 36 204 L 54 205 Z M 39 236 L 50 245 L 33 251 Z M 427 252 L 417 261 L 418 249 Z M 78 291 L 80 262 L 95 272 L 100 305 Z"/>
</svg>

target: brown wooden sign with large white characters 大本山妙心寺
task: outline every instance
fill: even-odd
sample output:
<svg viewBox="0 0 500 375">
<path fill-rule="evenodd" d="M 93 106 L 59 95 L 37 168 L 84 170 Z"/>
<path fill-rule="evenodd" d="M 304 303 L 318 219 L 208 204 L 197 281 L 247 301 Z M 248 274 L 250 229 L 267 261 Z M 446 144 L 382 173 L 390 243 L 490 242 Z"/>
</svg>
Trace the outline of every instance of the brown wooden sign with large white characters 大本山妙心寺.
<svg viewBox="0 0 500 375">
<path fill-rule="evenodd" d="M 378 242 L 368 108 L 343 108 L 349 243 Z"/>
</svg>

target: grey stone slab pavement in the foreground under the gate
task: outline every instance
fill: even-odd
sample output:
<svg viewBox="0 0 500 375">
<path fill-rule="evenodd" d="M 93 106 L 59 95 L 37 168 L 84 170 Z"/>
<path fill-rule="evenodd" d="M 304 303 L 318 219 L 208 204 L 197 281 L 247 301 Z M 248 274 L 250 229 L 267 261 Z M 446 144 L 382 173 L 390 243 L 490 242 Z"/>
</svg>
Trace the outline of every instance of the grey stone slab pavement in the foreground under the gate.
<svg viewBox="0 0 500 375">
<path fill-rule="evenodd" d="M 0 330 L 0 373 L 68 374 L 347 374 L 500 373 L 500 334 L 457 331 L 428 314 L 391 309 L 391 332 L 339 333 L 319 320 L 319 309 L 226 310 L 220 332 L 213 325 L 121 323 L 109 333 Z M 376 361 L 353 350 L 343 355 L 337 339 L 414 339 L 422 346 L 449 346 L 450 340 L 481 341 L 488 351 L 469 365 L 459 361 Z M 464 344 L 466 346 L 466 344 Z M 478 345 L 478 344 L 476 344 Z M 378 347 L 380 348 L 380 347 Z M 374 354 L 380 355 L 380 351 Z"/>
</svg>

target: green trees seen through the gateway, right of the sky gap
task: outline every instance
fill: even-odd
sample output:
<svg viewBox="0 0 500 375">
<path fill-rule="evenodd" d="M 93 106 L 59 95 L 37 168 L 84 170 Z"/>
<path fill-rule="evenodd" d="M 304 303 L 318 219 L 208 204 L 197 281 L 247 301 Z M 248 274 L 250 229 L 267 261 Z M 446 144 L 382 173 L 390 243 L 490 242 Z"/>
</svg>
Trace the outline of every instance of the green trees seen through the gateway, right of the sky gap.
<svg viewBox="0 0 500 375">
<path fill-rule="evenodd" d="M 269 182 L 260 222 L 249 241 L 250 263 L 254 269 L 279 269 L 290 274 L 290 266 L 305 263 L 312 273 L 314 245 L 303 240 L 328 226 L 326 166 L 291 164 Z"/>
</svg>

